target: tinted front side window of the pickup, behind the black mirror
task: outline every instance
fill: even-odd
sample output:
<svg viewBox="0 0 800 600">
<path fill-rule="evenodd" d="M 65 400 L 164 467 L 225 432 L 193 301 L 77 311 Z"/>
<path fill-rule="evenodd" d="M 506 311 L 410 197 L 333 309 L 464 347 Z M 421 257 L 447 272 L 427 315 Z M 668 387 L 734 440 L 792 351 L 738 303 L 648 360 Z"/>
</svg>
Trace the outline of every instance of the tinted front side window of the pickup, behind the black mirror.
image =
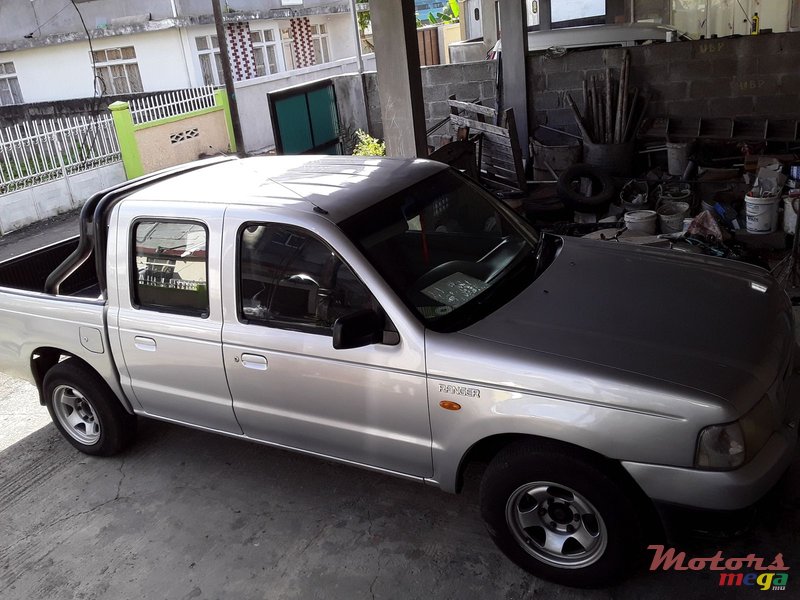
<svg viewBox="0 0 800 600">
<path fill-rule="evenodd" d="M 257 325 L 331 335 L 339 317 L 377 304 L 341 258 L 296 227 L 254 224 L 239 234 L 239 315 Z"/>
</svg>

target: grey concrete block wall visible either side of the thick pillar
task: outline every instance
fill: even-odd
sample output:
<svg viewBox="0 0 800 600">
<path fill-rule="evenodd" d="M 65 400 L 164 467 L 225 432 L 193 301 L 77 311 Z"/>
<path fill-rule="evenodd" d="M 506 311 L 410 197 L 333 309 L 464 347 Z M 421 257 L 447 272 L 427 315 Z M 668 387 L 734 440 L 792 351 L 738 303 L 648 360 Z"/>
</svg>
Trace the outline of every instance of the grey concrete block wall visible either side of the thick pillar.
<svg viewBox="0 0 800 600">
<path fill-rule="evenodd" d="M 423 67 L 422 96 L 426 128 L 432 127 L 450 114 L 447 98 L 453 94 L 459 100 L 480 99 L 485 106 L 494 107 L 496 78 L 495 61 Z M 368 73 L 366 83 L 372 135 L 383 138 L 376 74 Z M 451 135 L 454 132 L 451 133 L 449 125 L 445 125 L 429 138 L 428 143 L 439 147 L 445 140 L 449 141 Z"/>
</svg>

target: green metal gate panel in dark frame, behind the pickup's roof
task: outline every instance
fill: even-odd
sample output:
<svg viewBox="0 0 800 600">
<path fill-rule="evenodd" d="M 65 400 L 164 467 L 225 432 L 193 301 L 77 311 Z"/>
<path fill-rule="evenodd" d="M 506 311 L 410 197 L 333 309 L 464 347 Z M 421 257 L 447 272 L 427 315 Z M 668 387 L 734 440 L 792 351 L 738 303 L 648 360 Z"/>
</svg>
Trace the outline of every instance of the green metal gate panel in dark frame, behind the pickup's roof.
<svg viewBox="0 0 800 600">
<path fill-rule="evenodd" d="M 342 154 L 336 92 L 329 80 L 267 94 L 278 154 Z"/>
</svg>

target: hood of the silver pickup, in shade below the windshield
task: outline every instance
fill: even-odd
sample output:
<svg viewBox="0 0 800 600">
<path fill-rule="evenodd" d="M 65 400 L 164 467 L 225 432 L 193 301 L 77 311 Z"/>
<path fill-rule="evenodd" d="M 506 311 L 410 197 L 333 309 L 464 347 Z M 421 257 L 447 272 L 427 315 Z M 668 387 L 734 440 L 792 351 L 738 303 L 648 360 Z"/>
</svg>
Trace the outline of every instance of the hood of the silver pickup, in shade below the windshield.
<svg viewBox="0 0 800 600">
<path fill-rule="evenodd" d="M 791 305 L 767 271 L 615 242 L 561 243 L 528 288 L 461 333 L 710 394 L 737 412 L 786 368 Z"/>
</svg>

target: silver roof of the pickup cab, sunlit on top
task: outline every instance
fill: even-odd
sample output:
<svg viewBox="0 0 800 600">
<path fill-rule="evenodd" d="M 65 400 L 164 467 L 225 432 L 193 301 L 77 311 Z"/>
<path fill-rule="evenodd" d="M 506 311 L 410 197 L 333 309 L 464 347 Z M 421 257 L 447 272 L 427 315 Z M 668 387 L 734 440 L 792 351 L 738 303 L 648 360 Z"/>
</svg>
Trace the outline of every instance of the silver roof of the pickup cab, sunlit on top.
<svg viewBox="0 0 800 600">
<path fill-rule="evenodd" d="M 311 212 L 335 223 L 369 208 L 446 165 L 361 156 L 255 156 L 212 162 L 135 191 L 129 199 L 214 202 Z"/>
</svg>

